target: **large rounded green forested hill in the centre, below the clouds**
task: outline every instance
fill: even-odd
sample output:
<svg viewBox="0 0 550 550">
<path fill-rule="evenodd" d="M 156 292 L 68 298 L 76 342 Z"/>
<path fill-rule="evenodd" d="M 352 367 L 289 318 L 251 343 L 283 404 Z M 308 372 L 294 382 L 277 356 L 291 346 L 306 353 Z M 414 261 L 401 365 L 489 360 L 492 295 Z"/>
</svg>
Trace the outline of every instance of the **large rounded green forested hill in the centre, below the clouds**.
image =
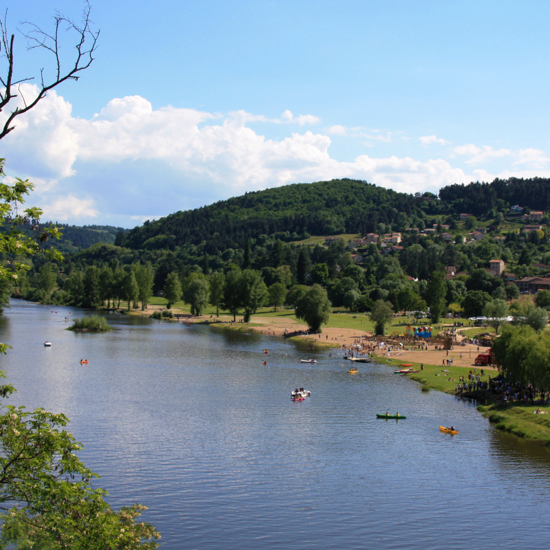
<svg viewBox="0 0 550 550">
<path fill-rule="evenodd" d="M 134 228 L 117 244 L 133 249 L 173 250 L 211 241 L 217 250 L 278 232 L 369 233 L 415 211 L 419 199 L 366 181 L 333 179 L 246 193 L 210 206 L 176 212 Z"/>
</svg>

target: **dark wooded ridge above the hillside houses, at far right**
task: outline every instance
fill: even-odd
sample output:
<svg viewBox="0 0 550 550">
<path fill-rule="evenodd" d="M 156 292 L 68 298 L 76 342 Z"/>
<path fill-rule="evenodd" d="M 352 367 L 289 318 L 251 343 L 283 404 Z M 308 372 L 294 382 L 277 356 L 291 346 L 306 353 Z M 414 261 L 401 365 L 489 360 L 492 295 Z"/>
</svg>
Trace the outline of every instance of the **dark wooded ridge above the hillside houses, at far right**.
<svg viewBox="0 0 550 550">
<path fill-rule="evenodd" d="M 489 183 L 454 184 L 439 190 L 441 201 L 448 203 L 454 212 L 474 216 L 485 215 L 492 208 L 519 204 L 531 210 L 550 210 L 550 179 L 533 177 L 529 179 L 510 177 L 494 179 Z M 499 205 L 498 201 L 502 201 Z"/>
</svg>

